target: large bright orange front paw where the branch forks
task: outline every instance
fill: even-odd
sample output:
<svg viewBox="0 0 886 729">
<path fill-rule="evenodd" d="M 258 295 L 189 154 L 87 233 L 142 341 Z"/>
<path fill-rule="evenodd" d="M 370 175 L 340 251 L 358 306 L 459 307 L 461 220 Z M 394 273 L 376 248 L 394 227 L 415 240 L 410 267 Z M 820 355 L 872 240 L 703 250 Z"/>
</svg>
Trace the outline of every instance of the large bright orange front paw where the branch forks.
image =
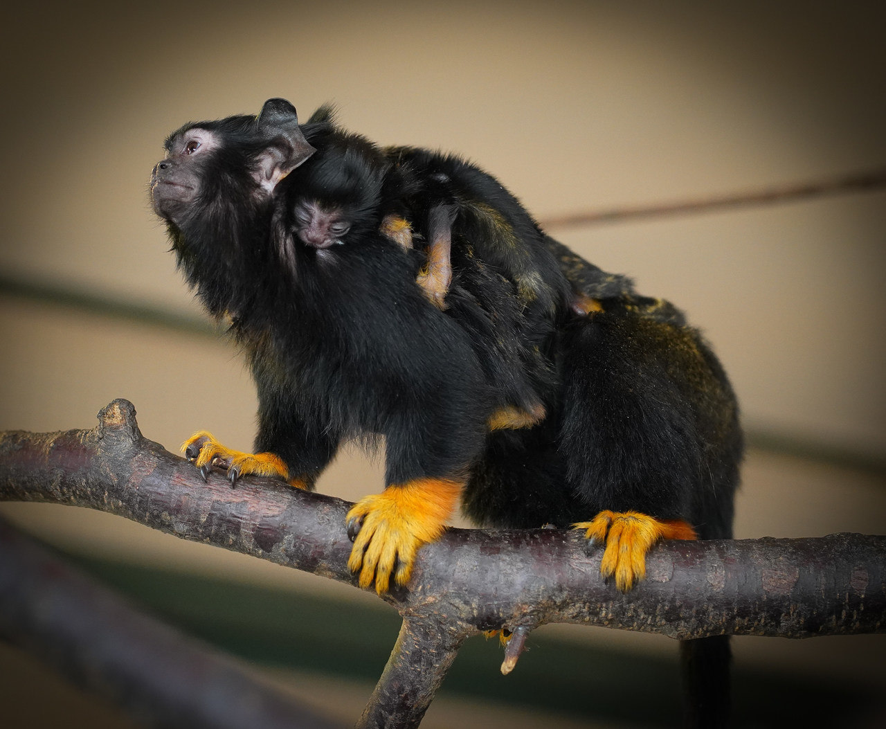
<svg viewBox="0 0 886 729">
<path fill-rule="evenodd" d="M 360 586 L 369 587 L 375 579 L 376 592 L 386 593 L 392 576 L 405 585 L 418 548 L 443 533 L 461 492 L 459 481 L 416 478 L 354 504 L 346 516 L 354 541 L 347 566 L 360 570 Z"/>
</svg>

